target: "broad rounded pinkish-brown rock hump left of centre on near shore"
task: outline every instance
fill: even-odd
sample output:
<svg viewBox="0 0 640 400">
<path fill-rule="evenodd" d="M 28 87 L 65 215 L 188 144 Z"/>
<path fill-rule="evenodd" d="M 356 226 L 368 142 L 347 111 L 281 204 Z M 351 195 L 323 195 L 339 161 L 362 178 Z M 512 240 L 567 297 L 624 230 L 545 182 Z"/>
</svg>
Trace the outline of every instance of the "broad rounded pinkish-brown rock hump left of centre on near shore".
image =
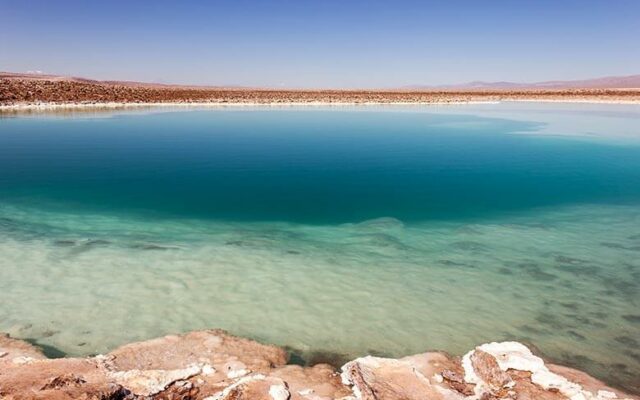
<svg viewBox="0 0 640 400">
<path fill-rule="evenodd" d="M 231 336 L 222 330 L 132 343 L 114 350 L 108 357 L 109 369 L 124 372 L 120 376 L 131 377 L 130 372 L 137 371 L 133 374 L 135 381 L 115 379 L 118 375 L 114 373 L 109 377 L 141 395 L 160 393 L 173 381 L 184 379 L 189 379 L 201 396 L 212 395 L 252 372 L 268 373 L 287 362 L 286 352 L 278 347 Z"/>
</svg>

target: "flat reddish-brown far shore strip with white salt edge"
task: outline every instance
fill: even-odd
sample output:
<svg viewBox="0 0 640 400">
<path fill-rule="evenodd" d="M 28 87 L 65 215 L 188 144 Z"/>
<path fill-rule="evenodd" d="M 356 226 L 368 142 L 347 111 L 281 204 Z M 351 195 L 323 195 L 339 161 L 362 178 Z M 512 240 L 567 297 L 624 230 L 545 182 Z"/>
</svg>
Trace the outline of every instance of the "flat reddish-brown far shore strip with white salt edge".
<svg viewBox="0 0 640 400">
<path fill-rule="evenodd" d="M 640 103 L 640 89 L 275 90 L 126 84 L 0 74 L 0 110 L 140 104 Z"/>
</svg>

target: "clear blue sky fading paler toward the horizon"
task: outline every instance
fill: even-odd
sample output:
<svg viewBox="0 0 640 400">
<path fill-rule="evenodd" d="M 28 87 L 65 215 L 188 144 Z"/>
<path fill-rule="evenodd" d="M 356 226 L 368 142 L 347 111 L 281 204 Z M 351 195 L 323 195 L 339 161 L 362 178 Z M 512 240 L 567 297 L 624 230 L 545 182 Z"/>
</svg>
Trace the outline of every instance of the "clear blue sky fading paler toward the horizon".
<svg viewBox="0 0 640 400">
<path fill-rule="evenodd" d="M 0 70 L 394 87 L 640 73 L 640 0 L 0 0 Z"/>
</svg>

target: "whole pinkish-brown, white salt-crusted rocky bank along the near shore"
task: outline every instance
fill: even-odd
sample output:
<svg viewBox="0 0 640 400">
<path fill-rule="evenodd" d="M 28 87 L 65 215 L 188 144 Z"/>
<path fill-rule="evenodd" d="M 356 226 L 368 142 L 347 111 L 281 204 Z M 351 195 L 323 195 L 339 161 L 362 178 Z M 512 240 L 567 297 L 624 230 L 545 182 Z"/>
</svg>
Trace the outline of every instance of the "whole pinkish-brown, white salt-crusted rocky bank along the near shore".
<svg viewBox="0 0 640 400">
<path fill-rule="evenodd" d="M 220 330 L 55 360 L 0 336 L 0 399 L 636 399 L 580 371 L 546 365 L 516 342 L 484 344 L 462 359 L 443 353 L 368 356 L 341 373 L 326 364 L 286 363 L 283 349 Z"/>
</svg>

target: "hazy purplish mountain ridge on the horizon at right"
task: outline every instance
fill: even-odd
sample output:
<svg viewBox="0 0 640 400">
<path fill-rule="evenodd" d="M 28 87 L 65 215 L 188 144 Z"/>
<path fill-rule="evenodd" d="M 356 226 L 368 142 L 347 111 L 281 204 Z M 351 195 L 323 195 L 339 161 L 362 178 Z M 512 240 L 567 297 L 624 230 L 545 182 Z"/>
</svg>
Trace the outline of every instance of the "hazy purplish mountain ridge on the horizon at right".
<svg viewBox="0 0 640 400">
<path fill-rule="evenodd" d="M 640 75 L 607 76 L 575 81 L 545 81 L 533 83 L 473 81 L 455 85 L 412 85 L 408 89 L 636 89 Z"/>
</svg>

